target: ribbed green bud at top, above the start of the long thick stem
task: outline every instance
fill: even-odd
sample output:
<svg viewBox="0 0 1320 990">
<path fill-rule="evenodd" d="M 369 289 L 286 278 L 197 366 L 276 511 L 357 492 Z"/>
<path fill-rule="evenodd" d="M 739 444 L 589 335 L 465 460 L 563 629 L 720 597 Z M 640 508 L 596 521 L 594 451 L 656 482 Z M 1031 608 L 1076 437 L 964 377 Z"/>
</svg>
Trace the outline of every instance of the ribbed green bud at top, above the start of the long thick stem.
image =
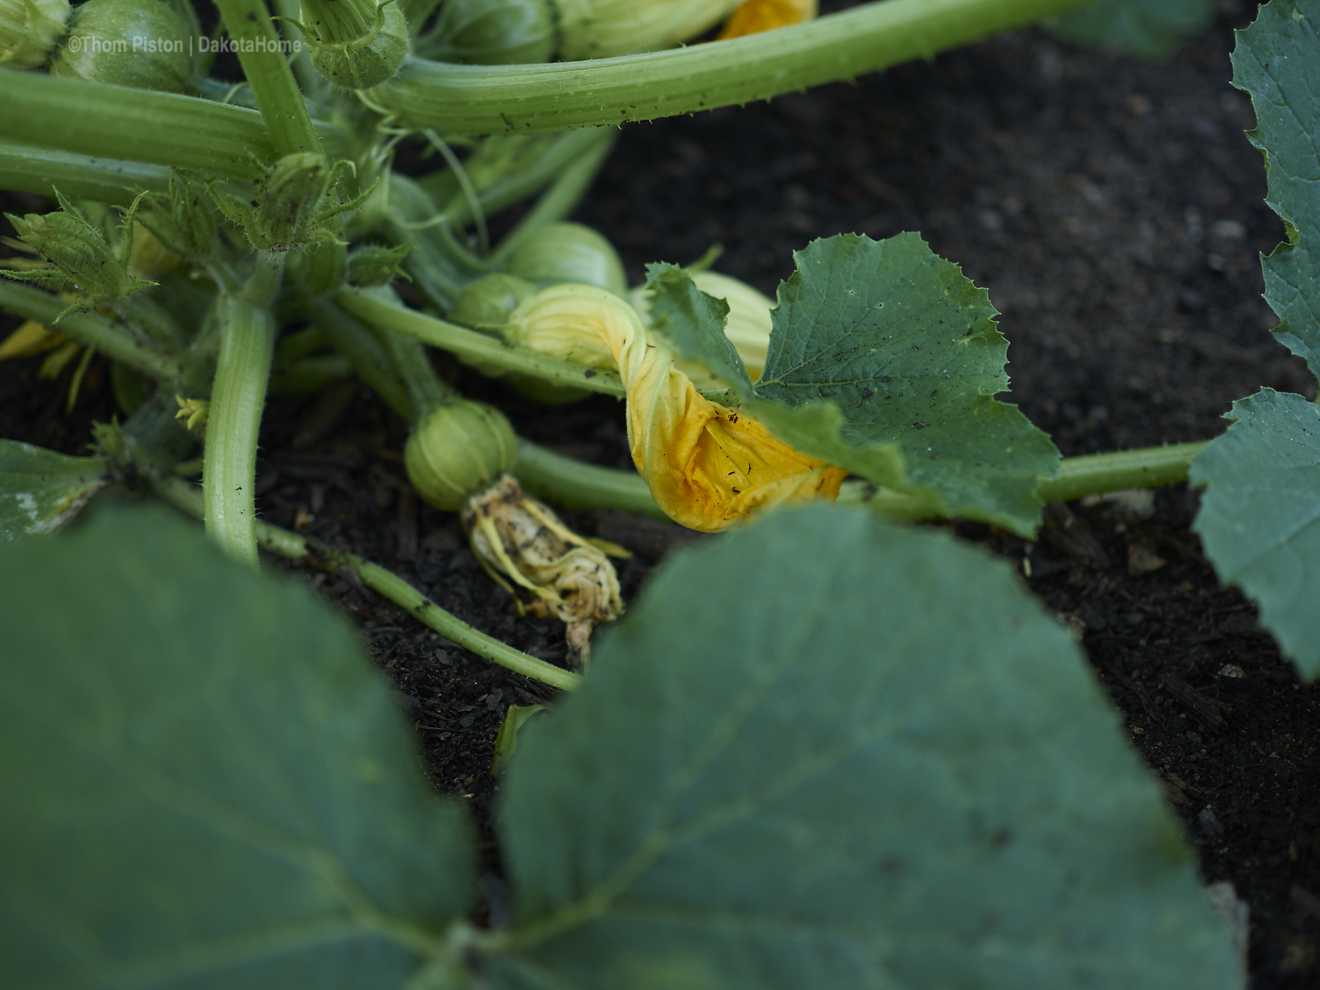
<svg viewBox="0 0 1320 990">
<path fill-rule="evenodd" d="M 395 0 L 304 0 L 298 28 L 312 65 L 346 90 L 392 79 L 408 58 L 408 18 Z"/>
</svg>

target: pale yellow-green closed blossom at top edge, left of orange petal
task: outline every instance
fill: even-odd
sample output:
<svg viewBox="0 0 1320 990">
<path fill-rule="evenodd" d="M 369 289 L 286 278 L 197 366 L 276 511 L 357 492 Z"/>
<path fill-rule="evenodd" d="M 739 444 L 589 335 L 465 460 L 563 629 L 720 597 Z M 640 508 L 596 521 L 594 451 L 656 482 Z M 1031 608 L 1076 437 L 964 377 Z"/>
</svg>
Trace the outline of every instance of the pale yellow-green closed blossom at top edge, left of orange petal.
<svg viewBox="0 0 1320 990">
<path fill-rule="evenodd" d="M 742 0 L 557 0 L 560 58 L 672 48 L 714 28 Z"/>
</svg>

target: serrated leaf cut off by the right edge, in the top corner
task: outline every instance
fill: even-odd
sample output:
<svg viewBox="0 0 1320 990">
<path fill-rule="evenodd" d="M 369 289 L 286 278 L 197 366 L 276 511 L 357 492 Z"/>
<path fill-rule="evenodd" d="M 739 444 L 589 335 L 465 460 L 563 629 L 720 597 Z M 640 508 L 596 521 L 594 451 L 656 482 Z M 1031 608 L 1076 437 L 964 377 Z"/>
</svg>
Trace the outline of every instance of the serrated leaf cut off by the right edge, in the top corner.
<svg viewBox="0 0 1320 990">
<path fill-rule="evenodd" d="M 1279 341 L 1320 378 L 1320 3 L 1272 0 L 1238 33 L 1233 84 L 1251 94 L 1265 154 L 1266 203 L 1287 240 L 1263 259 L 1265 300 Z"/>
</svg>

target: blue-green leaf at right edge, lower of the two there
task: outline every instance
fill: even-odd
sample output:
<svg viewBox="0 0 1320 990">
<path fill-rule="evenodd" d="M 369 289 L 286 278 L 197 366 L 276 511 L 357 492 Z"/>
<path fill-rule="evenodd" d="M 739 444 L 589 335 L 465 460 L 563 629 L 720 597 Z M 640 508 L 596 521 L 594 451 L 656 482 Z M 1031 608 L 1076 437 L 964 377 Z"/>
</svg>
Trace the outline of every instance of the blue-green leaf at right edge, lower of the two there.
<svg viewBox="0 0 1320 990">
<path fill-rule="evenodd" d="M 1320 675 L 1320 409 L 1263 388 L 1192 462 L 1208 486 L 1193 529 L 1220 579 L 1261 606 L 1261 623 L 1307 680 Z"/>
</svg>

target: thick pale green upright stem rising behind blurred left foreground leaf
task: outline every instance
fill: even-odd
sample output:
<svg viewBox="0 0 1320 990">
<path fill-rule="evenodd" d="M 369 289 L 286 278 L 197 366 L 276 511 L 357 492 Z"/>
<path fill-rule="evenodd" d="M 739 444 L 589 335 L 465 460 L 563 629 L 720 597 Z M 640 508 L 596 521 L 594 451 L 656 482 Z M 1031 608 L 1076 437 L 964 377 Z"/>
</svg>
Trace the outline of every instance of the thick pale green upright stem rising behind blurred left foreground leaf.
<svg viewBox="0 0 1320 990">
<path fill-rule="evenodd" d="M 275 318 L 243 296 L 216 301 L 220 354 L 211 387 L 202 467 L 206 532 L 256 566 L 256 441 L 271 378 Z"/>
</svg>

